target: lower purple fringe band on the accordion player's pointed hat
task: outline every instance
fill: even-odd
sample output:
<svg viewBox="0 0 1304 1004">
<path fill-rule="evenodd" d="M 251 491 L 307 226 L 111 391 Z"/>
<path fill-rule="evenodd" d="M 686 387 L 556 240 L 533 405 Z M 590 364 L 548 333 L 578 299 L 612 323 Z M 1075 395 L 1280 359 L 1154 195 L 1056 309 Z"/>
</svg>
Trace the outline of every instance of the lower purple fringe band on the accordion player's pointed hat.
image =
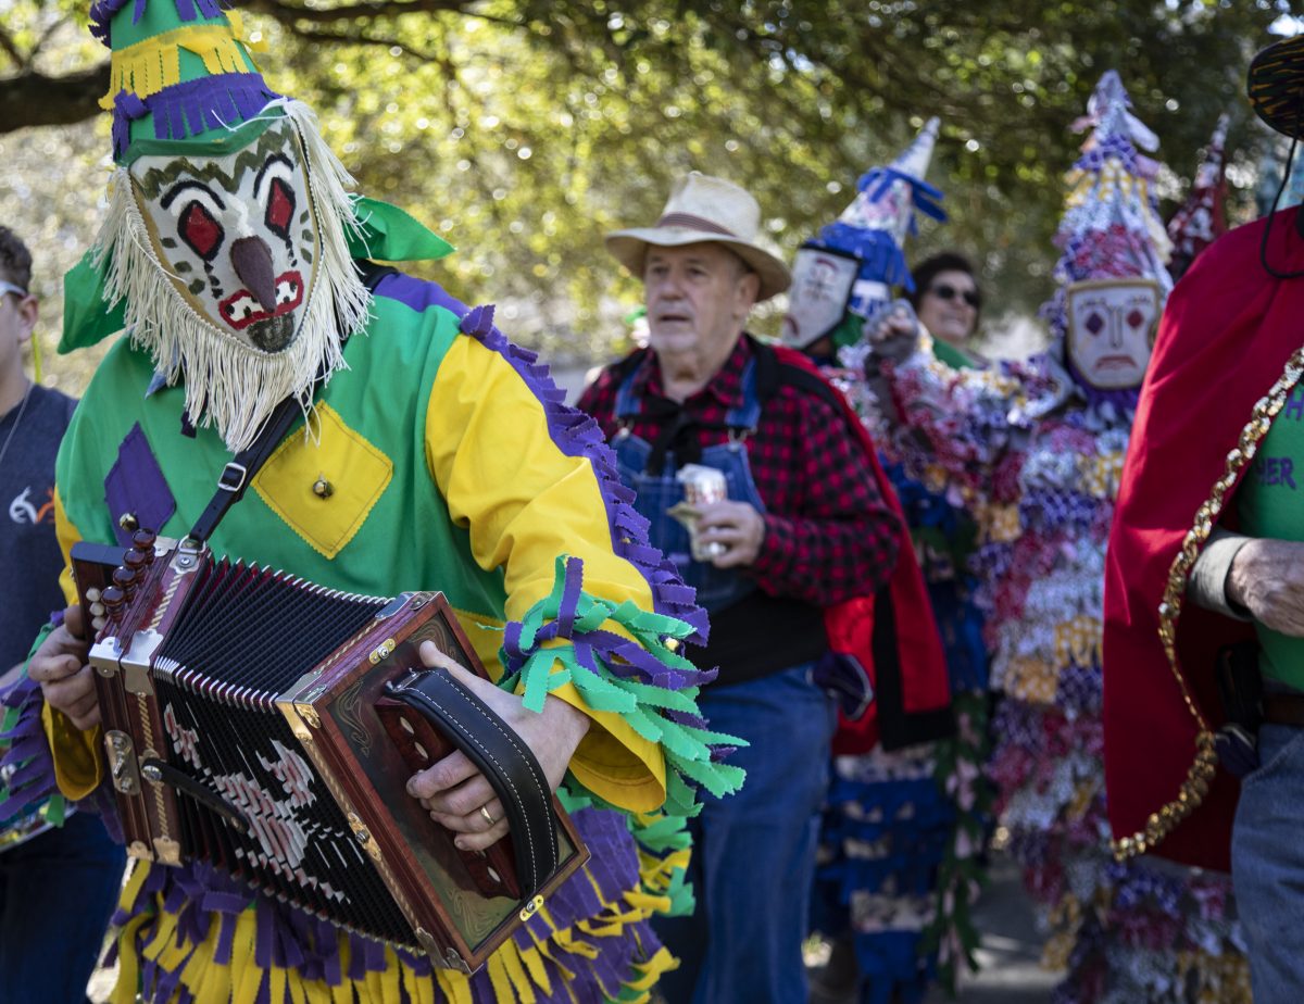
<svg viewBox="0 0 1304 1004">
<path fill-rule="evenodd" d="M 279 96 L 259 73 L 216 73 L 173 83 L 143 102 L 134 94 L 119 93 L 113 99 L 113 156 L 123 159 L 132 121 L 146 113 L 154 115 L 155 140 L 186 140 L 248 121 Z"/>
</svg>

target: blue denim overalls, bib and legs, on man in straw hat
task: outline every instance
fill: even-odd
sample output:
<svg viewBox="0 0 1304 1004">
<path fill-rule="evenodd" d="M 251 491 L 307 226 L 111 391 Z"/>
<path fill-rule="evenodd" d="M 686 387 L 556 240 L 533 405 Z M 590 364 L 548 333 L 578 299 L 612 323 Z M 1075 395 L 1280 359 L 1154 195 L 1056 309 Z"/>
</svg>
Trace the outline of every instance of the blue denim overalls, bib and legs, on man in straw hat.
<svg viewBox="0 0 1304 1004">
<path fill-rule="evenodd" d="M 655 449 L 630 432 L 642 409 L 631 373 L 615 398 L 619 432 L 612 445 L 621 480 L 638 493 L 634 506 L 651 523 L 652 544 L 698 591 L 698 604 L 708 612 L 724 609 L 756 584 L 743 571 L 692 561 L 689 531 L 665 514 L 683 498 L 675 458 L 666 450 L 660 471 L 649 473 L 649 460 L 656 467 Z M 760 411 L 752 360 L 743 370 L 742 403 L 725 416 L 729 442 L 704 446 L 699 463 L 724 473 L 730 499 L 764 512 L 746 447 Z M 687 879 L 698 909 L 689 917 L 653 919 L 657 935 L 681 960 L 679 969 L 666 973 L 657 987 L 668 1001 L 806 1000 L 801 943 L 833 734 L 833 705 L 811 683 L 812 665 L 702 691 L 699 704 L 709 728 L 750 743 L 729 758 L 747 772 L 747 781 L 724 799 L 703 791 L 702 812 L 689 820 L 694 850 Z"/>
</svg>

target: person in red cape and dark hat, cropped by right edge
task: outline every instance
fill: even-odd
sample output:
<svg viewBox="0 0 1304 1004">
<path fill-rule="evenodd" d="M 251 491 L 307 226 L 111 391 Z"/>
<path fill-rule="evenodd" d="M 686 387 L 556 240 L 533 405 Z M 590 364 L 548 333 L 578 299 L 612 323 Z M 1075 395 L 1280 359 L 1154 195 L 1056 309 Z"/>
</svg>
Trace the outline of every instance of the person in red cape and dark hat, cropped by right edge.
<svg viewBox="0 0 1304 1004">
<path fill-rule="evenodd" d="M 1304 35 L 1254 57 L 1249 99 L 1304 136 Z M 1304 986 L 1301 227 L 1231 231 L 1174 289 L 1106 566 L 1115 853 L 1230 866 L 1258 1004 Z"/>
</svg>

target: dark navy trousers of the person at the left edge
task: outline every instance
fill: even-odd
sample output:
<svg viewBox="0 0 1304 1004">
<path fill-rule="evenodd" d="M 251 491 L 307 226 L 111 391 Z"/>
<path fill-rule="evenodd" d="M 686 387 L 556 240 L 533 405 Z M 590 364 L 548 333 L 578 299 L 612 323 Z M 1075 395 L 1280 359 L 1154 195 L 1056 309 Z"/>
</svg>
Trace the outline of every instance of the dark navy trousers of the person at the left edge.
<svg viewBox="0 0 1304 1004">
<path fill-rule="evenodd" d="M 76 812 L 0 854 L 0 997 L 86 1000 L 126 854 L 91 812 Z"/>
</svg>

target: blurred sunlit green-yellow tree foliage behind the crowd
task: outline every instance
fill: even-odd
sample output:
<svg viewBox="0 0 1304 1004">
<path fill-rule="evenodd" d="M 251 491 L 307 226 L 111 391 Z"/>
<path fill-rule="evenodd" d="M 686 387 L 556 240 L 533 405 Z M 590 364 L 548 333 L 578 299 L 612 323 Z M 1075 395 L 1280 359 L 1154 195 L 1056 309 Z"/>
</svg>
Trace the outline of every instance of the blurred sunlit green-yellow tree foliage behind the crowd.
<svg viewBox="0 0 1304 1004">
<path fill-rule="evenodd" d="M 158 3 L 159 0 L 154 0 Z M 252 0 L 269 82 L 317 108 L 361 190 L 459 246 L 415 271 L 499 304 L 514 338 L 567 365 L 627 344 L 640 287 L 602 235 L 655 222 L 696 168 L 760 199 L 786 257 L 930 115 L 928 180 L 951 219 L 918 259 L 981 265 L 995 332 L 1050 295 L 1071 129 L 1118 69 L 1161 138 L 1164 215 L 1222 111 L 1231 213 L 1254 214 L 1273 146 L 1244 74 L 1286 0 Z M 47 382 L 78 391 L 94 353 L 53 357 L 60 276 L 98 228 L 107 52 L 86 1 L 0 0 L 0 220 L 38 259 Z M 781 300 L 756 326 L 773 331 Z M 1026 330 L 1026 327 L 1025 327 Z"/>
</svg>

